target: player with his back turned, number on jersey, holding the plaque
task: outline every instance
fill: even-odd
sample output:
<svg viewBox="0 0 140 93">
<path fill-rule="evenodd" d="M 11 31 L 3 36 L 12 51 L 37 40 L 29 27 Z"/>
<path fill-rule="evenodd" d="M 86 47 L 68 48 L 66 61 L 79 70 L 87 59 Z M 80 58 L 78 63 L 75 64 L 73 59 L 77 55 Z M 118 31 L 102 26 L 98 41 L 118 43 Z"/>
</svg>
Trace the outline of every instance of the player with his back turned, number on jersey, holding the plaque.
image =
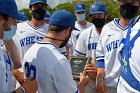
<svg viewBox="0 0 140 93">
<path fill-rule="evenodd" d="M 65 10 L 58 10 L 50 17 L 46 38 L 26 52 L 23 60 L 25 73 L 27 77 L 32 75 L 37 79 L 38 93 L 83 93 L 87 78 L 80 82 L 82 88 L 78 91 L 70 63 L 58 50 L 58 47 L 67 44 L 73 29 L 76 29 L 74 16 Z"/>
</svg>

